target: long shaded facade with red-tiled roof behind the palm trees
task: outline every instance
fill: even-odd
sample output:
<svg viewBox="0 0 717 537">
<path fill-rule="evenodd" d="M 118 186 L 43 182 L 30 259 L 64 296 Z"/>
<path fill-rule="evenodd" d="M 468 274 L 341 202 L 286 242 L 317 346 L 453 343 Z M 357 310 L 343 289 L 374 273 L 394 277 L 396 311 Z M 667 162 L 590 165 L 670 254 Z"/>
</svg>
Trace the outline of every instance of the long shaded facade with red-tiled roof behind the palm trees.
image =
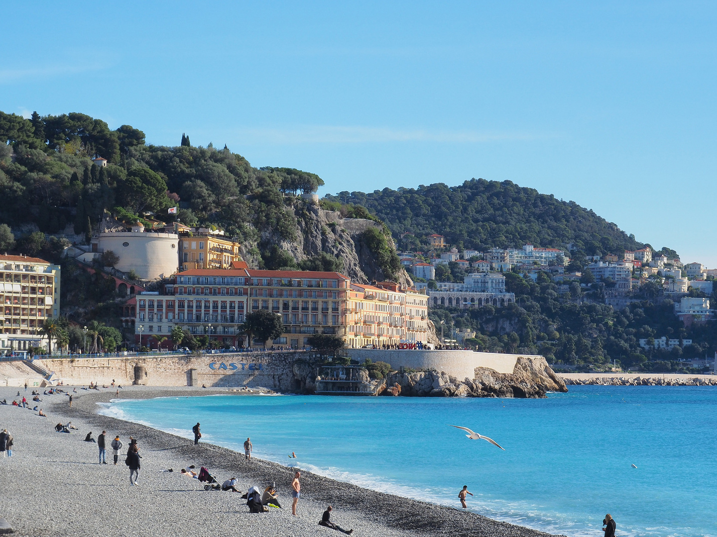
<svg viewBox="0 0 717 537">
<path fill-rule="evenodd" d="M 300 349 L 311 334 L 344 337 L 348 282 L 336 272 L 191 269 L 163 295 L 137 297 L 136 341 L 168 337 L 179 325 L 236 347 L 263 345 L 242 333 L 245 316 L 259 309 L 282 316 L 284 333 L 273 342 L 278 346 Z"/>
</svg>

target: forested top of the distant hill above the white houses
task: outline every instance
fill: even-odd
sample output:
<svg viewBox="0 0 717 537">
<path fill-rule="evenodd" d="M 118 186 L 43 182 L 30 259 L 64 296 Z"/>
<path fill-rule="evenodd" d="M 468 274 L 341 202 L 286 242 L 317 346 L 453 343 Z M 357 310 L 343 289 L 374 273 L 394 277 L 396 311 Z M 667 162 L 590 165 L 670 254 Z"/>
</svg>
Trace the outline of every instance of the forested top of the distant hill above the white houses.
<svg viewBox="0 0 717 537">
<path fill-rule="evenodd" d="M 432 233 L 445 236 L 459 249 L 479 251 L 493 246 L 519 248 L 525 243 L 557 248 L 575 241 L 588 253 L 642 246 L 593 211 L 511 181 L 472 179 L 454 187 L 435 183 L 372 193 L 341 192 L 326 199 L 363 205 L 389 226 L 394 238 L 414 233 L 399 243 L 406 248 L 424 248 Z"/>
</svg>

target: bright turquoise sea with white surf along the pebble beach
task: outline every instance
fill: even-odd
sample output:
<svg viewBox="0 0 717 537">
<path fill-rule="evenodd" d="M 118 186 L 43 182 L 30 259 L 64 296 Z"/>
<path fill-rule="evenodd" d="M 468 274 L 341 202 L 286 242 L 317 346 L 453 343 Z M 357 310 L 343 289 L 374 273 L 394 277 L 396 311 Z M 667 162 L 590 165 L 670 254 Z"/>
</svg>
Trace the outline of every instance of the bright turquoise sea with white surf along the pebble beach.
<svg viewBox="0 0 717 537">
<path fill-rule="evenodd" d="M 551 533 L 602 536 L 611 513 L 620 536 L 717 536 L 717 388 L 570 388 L 543 400 L 168 397 L 101 412 L 186 437 L 199 421 L 208 442 L 243 451 L 248 436 L 260 458 L 442 505 L 460 507 L 468 485 L 476 513 Z"/>
</svg>

